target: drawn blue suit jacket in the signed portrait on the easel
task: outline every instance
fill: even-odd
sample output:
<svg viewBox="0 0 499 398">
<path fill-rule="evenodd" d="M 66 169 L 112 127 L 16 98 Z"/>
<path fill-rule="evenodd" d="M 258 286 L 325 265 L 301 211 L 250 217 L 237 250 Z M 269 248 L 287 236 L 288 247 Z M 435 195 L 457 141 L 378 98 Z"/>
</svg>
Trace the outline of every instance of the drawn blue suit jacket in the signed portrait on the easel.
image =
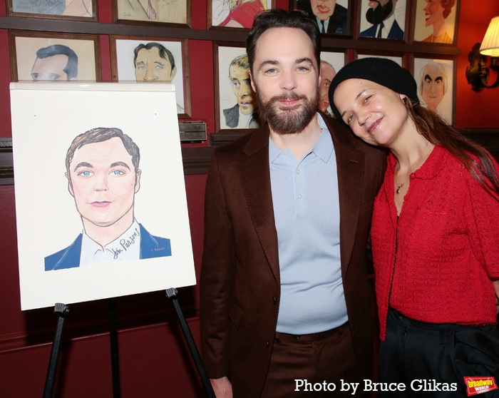
<svg viewBox="0 0 499 398">
<path fill-rule="evenodd" d="M 170 239 L 153 236 L 142 226 L 140 227 L 140 260 L 172 255 Z M 80 266 L 81 242 L 83 235 L 71 243 L 67 248 L 45 257 L 45 270 L 63 270 Z"/>
</svg>

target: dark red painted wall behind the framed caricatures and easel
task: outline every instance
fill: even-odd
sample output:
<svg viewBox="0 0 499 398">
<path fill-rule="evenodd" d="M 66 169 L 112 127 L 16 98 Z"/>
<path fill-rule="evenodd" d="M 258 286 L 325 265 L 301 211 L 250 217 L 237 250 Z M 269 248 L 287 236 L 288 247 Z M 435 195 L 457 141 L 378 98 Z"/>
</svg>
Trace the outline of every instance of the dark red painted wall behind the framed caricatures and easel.
<svg viewBox="0 0 499 398">
<path fill-rule="evenodd" d="M 192 27 L 206 29 L 206 1 L 192 0 Z M 286 8 L 287 0 L 277 6 Z M 6 15 L 0 0 L 0 17 Z M 99 0 L 101 22 L 110 23 L 110 0 Z M 461 1 L 457 62 L 456 126 L 498 127 L 496 117 L 499 88 L 475 93 L 465 78 L 468 51 L 481 41 L 490 19 L 499 15 L 499 2 L 478 7 Z M 210 41 L 189 41 L 193 118 L 205 121 L 215 131 L 213 56 Z M 0 136 L 10 136 L 8 32 L 0 29 Z M 109 44 L 101 38 L 103 79 L 110 80 Z M 495 78 L 495 76 L 493 76 Z M 495 100 L 495 101 L 494 101 Z M 206 144 L 204 144 L 206 145 Z M 199 278 L 203 238 L 205 175 L 187 175 L 187 205 L 190 214 L 195 267 Z M 40 397 L 56 327 L 52 308 L 21 312 L 16 251 L 14 186 L 0 186 L 0 397 Z M 179 291 L 195 340 L 199 342 L 197 287 Z M 173 306 L 164 292 L 120 297 L 118 343 L 123 398 L 182 397 L 202 394 L 190 354 L 178 329 Z M 56 397 L 111 397 L 110 347 L 107 329 L 108 302 L 70 306 L 66 317 Z"/>
</svg>

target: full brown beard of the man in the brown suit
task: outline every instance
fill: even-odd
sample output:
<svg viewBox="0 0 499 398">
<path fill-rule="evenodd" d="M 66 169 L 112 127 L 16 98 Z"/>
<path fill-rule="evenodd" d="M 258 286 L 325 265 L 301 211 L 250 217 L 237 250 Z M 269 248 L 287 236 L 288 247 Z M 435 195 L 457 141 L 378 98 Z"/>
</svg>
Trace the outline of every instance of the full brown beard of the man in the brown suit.
<svg viewBox="0 0 499 398">
<path fill-rule="evenodd" d="M 273 96 L 268 101 L 264 101 L 258 96 L 258 113 L 265 121 L 269 122 L 274 131 L 278 134 L 294 134 L 302 131 L 312 120 L 319 105 L 319 94 L 313 98 L 298 96 L 296 93 L 289 93 L 284 96 Z M 279 101 L 301 100 L 295 106 L 280 106 Z"/>
</svg>

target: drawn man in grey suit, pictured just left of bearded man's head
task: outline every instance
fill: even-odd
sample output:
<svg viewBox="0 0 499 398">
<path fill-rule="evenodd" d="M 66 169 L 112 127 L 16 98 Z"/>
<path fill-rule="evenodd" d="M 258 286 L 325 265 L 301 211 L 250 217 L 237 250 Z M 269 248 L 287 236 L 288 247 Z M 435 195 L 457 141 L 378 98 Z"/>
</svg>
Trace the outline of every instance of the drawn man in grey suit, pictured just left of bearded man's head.
<svg viewBox="0 0 499 398">
<path fill-rule="evenodd" d="M 248 56 L 243 54 L 232 59 L 229 80 L 236 104 L 223 110 L 225 124 L 230 128 L 257 128 L 260 126 L 257 95 L 251 87 Z"/>
</svg>

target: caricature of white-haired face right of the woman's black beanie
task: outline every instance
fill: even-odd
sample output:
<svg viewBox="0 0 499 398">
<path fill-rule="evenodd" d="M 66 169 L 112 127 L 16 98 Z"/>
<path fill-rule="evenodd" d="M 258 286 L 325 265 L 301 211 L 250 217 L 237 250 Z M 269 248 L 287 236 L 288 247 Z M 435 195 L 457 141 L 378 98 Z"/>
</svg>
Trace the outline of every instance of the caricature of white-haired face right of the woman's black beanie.
<svg viewBox="0 0 499 398">
<path fill-rule="evenodd" d="M 454 122 L 456 71 L 452 59 L 414 58 L 418 98 L 423 106 Z"/>
</svg>

